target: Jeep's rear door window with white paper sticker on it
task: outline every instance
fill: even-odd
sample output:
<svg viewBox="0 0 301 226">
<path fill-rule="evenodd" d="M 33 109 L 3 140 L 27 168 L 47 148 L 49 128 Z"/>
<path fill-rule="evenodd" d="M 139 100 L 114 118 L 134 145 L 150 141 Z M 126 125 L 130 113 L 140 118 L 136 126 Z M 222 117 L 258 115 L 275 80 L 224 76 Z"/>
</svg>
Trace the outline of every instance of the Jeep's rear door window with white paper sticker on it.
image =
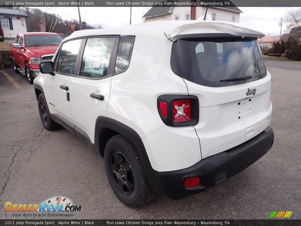
<svg viewBox="0 0 301 226">
<path fill-rule="evenodd" d="M 107 76 L 114 37 L 89 38 L 82 56 L 80 76 L 101 78 Z"/>
</svg>

